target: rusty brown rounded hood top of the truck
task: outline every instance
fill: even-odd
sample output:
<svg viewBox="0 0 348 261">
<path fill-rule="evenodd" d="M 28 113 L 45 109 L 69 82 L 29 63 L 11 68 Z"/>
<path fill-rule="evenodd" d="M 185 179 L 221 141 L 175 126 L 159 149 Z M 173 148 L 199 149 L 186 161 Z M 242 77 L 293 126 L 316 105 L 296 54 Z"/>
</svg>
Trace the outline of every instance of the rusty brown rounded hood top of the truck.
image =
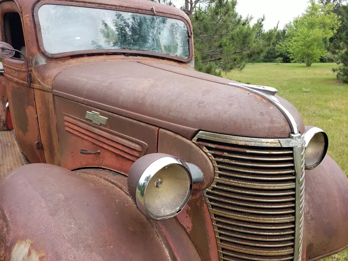
<svg viewBox="0 0 348 261">
<path fill-rule="evenodd" d="M 60 72 L 53 82 L 53 93 L 172 130 L 188 139 L 197 130 L 288 137 L 291 130 L 282 112 L 261 96 L 229 82 L 234 81 L 156 62 L 105 61 Z M 303 133 L 298 111 L 277 98 Z"/>
</svg>

